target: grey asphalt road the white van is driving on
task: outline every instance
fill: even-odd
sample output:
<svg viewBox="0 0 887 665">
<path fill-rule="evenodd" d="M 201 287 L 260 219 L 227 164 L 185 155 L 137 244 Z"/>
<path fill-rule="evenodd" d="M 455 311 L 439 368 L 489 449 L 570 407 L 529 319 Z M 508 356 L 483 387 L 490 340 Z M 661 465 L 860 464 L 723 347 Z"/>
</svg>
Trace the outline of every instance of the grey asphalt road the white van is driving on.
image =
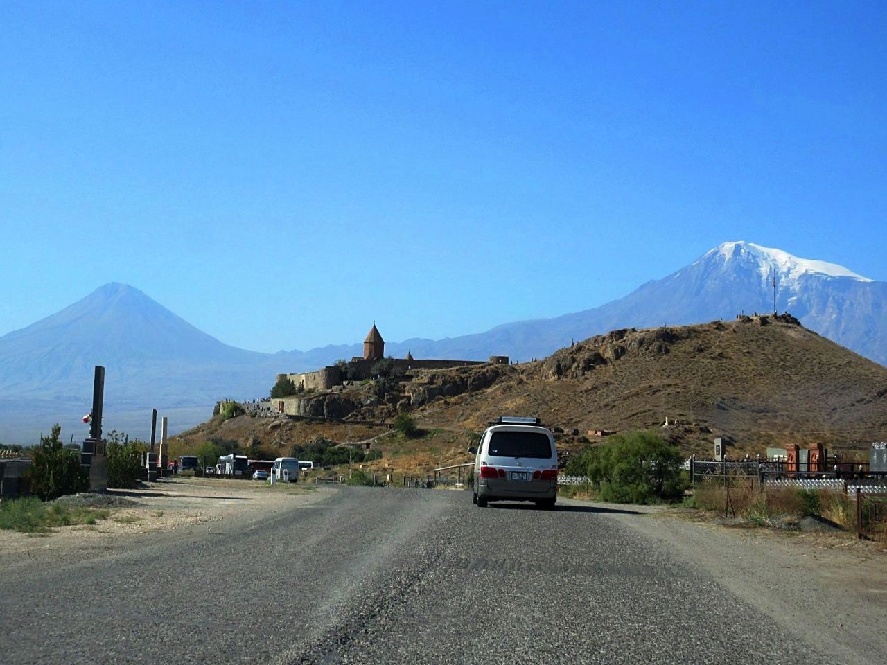
<svg viewBox="0 0 887 665">
<path fill-rule="evenodd" d="M 840 662 L 624 515 L 559 508 L 342 488 L 0 571 L 0 662 Z"/>
</svg>

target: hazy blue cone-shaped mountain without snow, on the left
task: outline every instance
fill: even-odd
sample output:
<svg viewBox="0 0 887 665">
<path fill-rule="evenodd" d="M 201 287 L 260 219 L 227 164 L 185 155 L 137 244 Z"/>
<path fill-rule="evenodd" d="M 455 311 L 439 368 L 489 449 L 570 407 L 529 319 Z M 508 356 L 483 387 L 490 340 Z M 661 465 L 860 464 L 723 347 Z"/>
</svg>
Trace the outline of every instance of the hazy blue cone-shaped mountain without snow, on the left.
<svg viewBox="0 0 887 665">
<path fill-rule="evenodd" d="M 266 395 L 274 357 L 223 344 L 138 289 L 107 284 L 0 337 L 0 442 L 12 431 L 20 439 L 23 416 L 32 421 L 52 415 L 70 432 L 71 423 L 89 411 L 97 364 L 106 367 L 107 421 L 118 412 L 150 414 L 153 407 L 200 407 L 208 415 L 221 397 Z M 122 429 L 116 422 L 110 426 Z M 136 433 L 130 428 L 130 434 Z"/>
</svg>

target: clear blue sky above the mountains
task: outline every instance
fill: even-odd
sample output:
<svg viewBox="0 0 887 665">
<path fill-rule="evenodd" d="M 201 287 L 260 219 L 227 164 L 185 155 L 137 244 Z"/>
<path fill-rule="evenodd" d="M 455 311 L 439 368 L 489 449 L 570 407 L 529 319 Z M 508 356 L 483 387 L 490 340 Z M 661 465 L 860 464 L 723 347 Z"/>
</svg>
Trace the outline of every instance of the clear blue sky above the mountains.
<svg viewBox="0 0 887 665">
<path fill-rule="evenodd" d="M 0 334 L 109 281 L 274 351 L 725 240 L 887 279 L 883 3 L 0 4 Z"/>
</svg>

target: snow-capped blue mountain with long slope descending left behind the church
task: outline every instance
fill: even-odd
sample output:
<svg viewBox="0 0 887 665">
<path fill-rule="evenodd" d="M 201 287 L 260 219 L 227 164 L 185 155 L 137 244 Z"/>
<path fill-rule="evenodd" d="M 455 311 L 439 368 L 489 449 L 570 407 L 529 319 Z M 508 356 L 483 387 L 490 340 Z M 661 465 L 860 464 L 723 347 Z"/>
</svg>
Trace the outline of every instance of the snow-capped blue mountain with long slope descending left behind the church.
<svg viewBox="0 0 887 665">
<path fill-rule="evenodd" d="M 726 242 L 666 278 L 594 309 L 561 317 L 498 325 L 487 332 L 447 340 L 387 344 L 395 356 L 518 360 L 545 357 L 570 340 L 616 328 L 683 325 L 741 312 L 789 311 L 805 327 L 887 364 L 887 283 L 875 282 L 834 263 L 801 259 L 779 249 Z"/>
</svg>

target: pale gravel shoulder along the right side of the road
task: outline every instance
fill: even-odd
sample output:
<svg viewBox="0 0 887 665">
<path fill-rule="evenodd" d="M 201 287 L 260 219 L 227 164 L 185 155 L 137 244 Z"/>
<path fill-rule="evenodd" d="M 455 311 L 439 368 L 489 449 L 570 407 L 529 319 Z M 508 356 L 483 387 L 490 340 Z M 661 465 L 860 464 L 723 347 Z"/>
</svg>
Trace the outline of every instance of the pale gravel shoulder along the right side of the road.
<svg viewBox="0 0 887 665">
<path fill-rule="evenodd" d="M 564 505 L 608 505 L 567 499 Z M 814 648 L 865 665 L 887 653 L 887 556 L 883 547 L 841 536 L 725 528 L 680 519 L 661 506 L 608 512 L 671 549 L 735 596 Z M 730 630 L 729 617 L 712 617 Z"/>
</svg>

